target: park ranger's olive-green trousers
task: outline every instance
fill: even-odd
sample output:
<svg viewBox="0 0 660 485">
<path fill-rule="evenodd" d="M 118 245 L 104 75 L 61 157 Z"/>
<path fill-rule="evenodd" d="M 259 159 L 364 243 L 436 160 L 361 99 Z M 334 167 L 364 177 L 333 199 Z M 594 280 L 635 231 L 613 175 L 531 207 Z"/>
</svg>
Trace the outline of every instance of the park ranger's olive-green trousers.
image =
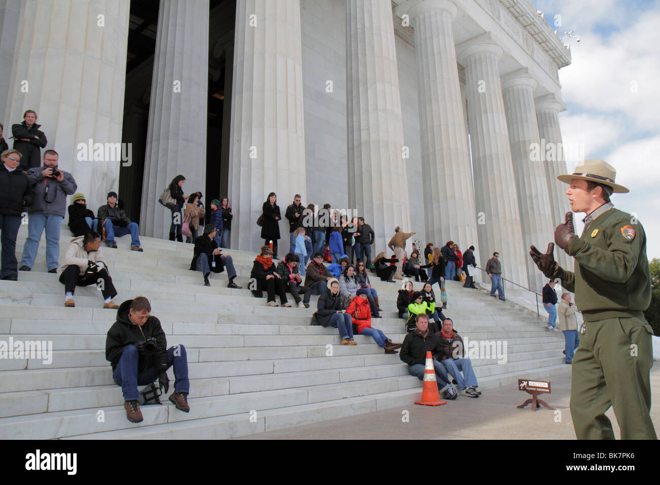
<svg viewBox="0 0 660 485">
<path fill-rule="evenodd" d="M 571 415 L 578 439 L 614 439 L 610 406 L 621 439 L 657 439 L 649 411 L 653 330 L 639 318 L 585 322 L 572 364 Z"/>
</svg>

